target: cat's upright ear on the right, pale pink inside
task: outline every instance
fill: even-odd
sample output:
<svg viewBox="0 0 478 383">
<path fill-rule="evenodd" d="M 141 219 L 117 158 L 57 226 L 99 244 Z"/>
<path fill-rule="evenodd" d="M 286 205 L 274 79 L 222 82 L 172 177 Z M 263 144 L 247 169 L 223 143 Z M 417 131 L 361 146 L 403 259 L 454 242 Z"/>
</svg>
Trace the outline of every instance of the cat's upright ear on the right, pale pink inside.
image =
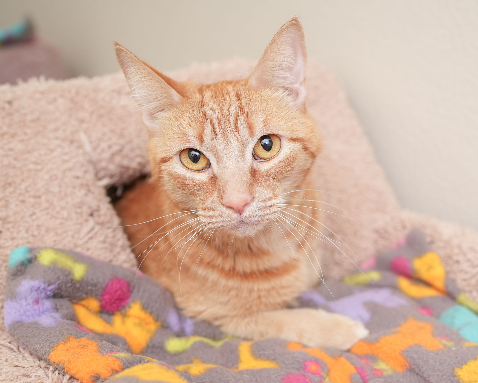
<svg viewBox="0 0 478 383">
<path fill-rule="evenodd" d="M 299 110 L 305 101 L 304 30 L 296 18 L 285 23 L 269 43 L 249 78 L 254 87 L 282 90 Z"/>
</svg>

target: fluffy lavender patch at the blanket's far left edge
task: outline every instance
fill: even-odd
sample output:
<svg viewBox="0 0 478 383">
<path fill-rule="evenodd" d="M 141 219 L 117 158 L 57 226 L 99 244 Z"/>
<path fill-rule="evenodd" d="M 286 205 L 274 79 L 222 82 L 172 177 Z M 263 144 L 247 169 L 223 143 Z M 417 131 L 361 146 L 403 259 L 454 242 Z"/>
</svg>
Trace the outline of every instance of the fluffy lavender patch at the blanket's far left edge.
<svg viewBox="0 0 478 383">
<path fill-rule="evenodd" d="M 47 285 L 42 280 L 25 279 L 17 288 L 16 298 L 4 305 L 4 321 L 7 329 L 14 322 L 36 321 L 43 327 L 54 327 L 61 319 L 55 312 L 51 296 L 58 283 Z"/>
</svg>

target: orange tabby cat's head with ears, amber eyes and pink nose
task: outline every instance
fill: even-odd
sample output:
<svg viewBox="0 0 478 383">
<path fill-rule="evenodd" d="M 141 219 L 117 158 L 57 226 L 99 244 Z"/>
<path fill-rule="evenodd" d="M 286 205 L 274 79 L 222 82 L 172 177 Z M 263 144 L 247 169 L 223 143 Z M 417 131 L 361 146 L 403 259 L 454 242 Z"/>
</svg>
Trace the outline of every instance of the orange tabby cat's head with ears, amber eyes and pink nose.
<svg viewBox="0 0 478 383">
<path fill-rule="evenodd" d="M 247 79 L 177 82 L 121 45 L 116 54 L 150 138 L 152 174 L 180 210 L 237 237 L 277 218 L 284 193 L 305 189 L 320 149 L 307 114 L 298 20 L 284 24 Z"/>
</svg>

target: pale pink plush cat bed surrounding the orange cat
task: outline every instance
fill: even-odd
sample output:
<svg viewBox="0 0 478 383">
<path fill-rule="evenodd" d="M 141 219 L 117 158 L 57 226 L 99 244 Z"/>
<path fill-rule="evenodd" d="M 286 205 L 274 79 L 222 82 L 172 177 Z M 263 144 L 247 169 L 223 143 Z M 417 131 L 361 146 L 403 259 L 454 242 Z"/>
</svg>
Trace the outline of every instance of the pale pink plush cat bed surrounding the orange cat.
<svg viewBox="0 0 478 383">
<path fill-rule="evenodd" d="M 246 76 L 252 66 L 231 60 L 169 75 L 212 82 Z M 325 141 L 315 172 L 317 189 L 328 193 L 318 198 L 357 217 L 326 215 L 325 224 L 353 249 L 350 258 L 359 263 L 418 227 L 458 288 L 477 300 L 478 234 L 401 209 L 336 79 L 314 63 L 307 79 L 308 108 Z M 134 269 L 105 192 L 147 171 L 146 132 L 122 76 L 0 86 L 0 129 L 2 290 L 8 254 L 19 246 L 69 248 Z M 354 269 L 337 249 L 325 245 L 323 253 L 327 279 Z M 19 347 L 3 327 L 0 376 L 12 382 L 70 379 Z"/>
</svg>

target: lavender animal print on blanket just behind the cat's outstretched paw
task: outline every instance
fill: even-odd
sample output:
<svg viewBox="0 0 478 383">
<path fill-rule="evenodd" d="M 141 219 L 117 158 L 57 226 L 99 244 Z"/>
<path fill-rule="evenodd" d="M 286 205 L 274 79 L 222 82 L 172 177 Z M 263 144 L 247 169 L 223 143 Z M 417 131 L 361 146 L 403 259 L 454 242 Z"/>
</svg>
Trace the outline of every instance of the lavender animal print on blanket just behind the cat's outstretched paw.
<svg viewBox="0 0 478 383">
<path fill-rule="evenodd" d="M 335 313 L 340 313 L 355 319 L 363 324 L 370 320 L 370 312 L 365 307 L 365 303 L 374 302 L 385 307 L 399 307 L 407 305 L 407 301 L 402 297 L 393 295 L 389 288 L 368 289 L 359 293 L 345 296 L 337 301 L 327 301 L 320 294 L 307 292 L 301 295 L 304 300 L 310 300 L 317 305 L 325 305 Z"/>
</svg>

